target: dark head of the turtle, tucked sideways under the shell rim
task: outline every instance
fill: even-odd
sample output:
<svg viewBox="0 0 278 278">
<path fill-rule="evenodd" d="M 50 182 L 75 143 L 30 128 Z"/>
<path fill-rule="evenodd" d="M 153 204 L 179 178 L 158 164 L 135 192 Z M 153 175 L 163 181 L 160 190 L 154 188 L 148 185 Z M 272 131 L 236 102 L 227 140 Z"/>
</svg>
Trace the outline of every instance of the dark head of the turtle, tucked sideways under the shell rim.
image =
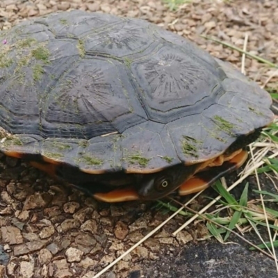
<svg viewBox="0 0 278 278">
<path fill-rule="evenodd" d="M 169 195 L 194 174 L 195 167 L 195 165 L 176 165 L 161 172 L 142 175 L 138 183 L 140 199 L 160 199 Z"/>
</svg>

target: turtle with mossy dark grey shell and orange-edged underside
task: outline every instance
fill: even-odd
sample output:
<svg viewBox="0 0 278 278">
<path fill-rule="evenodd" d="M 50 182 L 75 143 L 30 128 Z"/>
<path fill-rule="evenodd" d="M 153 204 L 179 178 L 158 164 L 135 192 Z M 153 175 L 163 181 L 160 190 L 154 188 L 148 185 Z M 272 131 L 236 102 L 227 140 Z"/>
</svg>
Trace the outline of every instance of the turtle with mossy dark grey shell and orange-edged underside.
<svg viewBox="0 0 278 278">
<path fill-rule="evenodd" d="M 0 42 L 0 152 L 104 202 L 202 190 L 274 119 L 234 65 L 142 19 L 52 13 Z"/>
</svg>

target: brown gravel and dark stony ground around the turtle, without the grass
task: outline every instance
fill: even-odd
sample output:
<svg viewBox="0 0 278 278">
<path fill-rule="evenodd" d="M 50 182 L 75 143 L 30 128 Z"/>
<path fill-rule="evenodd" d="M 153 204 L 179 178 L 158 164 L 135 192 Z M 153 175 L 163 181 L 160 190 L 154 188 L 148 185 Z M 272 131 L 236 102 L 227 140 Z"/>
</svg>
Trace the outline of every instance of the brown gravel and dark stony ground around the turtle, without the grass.
<svg viewBox="0 0 278 278">
<path fill-rule="evenodd" d="M 147 19 L 190 38 L 239 69 L 237 51 L 200 35 L 243 48 L 248 34 L 247 50 L 278 64 L 277 0 L 193 0 L 174 11 L 160 0 L 1 0 L 0 29 L 69 9 Z M 277 70 L 247 58 L 245 72 L 260 85 L 277 88 Z M 271 183 L 261 179 L 271 190 Z M 240 194 L 240 188 L 234 194 Z M 198 201 L 202 204 L 204 198 Z M 91 278 L 169 215 L 158 210 L 155 202 L 97 202 L 22 161 L 1 156 L 0 277 Z M 204 224 L 193 223 L 177 237 L 171 236 L 183 222 L 180 215 L 170 220 L 101 277 L 277 277 L 273 261 L 250 252 L 236 238 L 231 240 L 238 244 L 229 245 L 213 239 L 199 241 L 207 233 Z M 247 238 L 259 242 L 252 234 Z"/>
</svg>

